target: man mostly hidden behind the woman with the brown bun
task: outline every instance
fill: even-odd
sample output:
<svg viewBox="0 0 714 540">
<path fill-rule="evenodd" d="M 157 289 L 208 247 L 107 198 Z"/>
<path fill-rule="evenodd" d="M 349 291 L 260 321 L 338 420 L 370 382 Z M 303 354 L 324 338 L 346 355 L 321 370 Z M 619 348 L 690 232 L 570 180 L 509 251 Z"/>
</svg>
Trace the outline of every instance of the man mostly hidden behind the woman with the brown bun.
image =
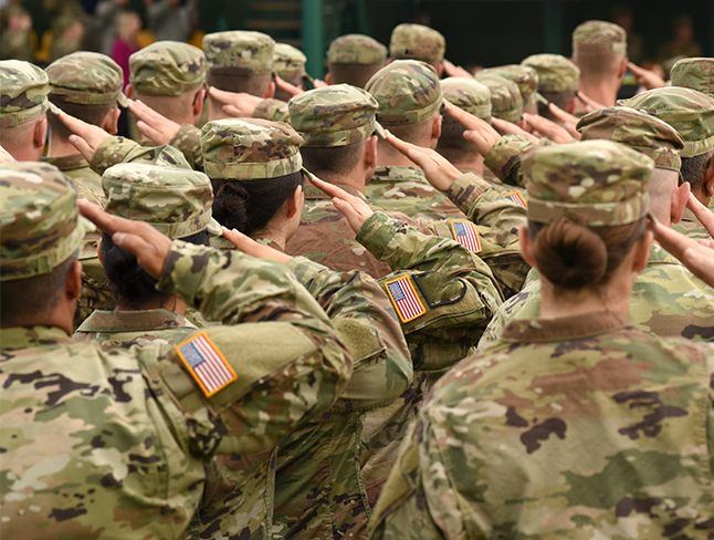
<svg viewBox="0 0 714 540">
<path fill-rule="evenodd" d="M 650 210 L 666 227 L 681 219 L 689 198 L 689 185 L 679 186 L 679 154 L 686 143 L 672 126 L 645 112 L 608 107 L 584 116 L 577 128 L 584 141 L 611 139 L 652 157 L 655 169 L 648 187 Z M 516 149 L 515 139 L 511 138 L 511 143 L 507 139 L 504 137 L 494 146 L 493 155 L 486 156 L 486 163 L 496 155 L 502 163 L 518 162 L 513 155 L 523 155 L 532 145 L 528 143 Z M 516 167 L 521 168 L 519 165 Z M 529 276 L 518 299 L 506 302 L 498 311 L 484 333 L 480 349 L 495 341 L 512 320 L 539 316 L 539 281 L 533 282 L 532 278 Z M 714 294 L 711 288 L 657 245 L 652 246 L 648 266 L 634 283 L 629 316 L 640 329 L 652 334 L 714 340 Z"/>
</svg>

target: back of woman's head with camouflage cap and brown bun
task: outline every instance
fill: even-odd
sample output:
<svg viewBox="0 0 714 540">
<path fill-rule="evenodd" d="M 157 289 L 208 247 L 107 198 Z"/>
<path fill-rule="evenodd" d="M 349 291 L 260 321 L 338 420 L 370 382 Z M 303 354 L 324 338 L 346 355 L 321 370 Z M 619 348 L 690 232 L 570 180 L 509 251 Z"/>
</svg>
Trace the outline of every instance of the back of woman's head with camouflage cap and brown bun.
<svg viewBox="0 0 714 540">
<path fill-rule="evenodd" d="M 523 158 L 528 236 L 556 288 L 607 284 L 645 232 L 654 163 L 610 141 L 537 147 Z"/>
</svg>

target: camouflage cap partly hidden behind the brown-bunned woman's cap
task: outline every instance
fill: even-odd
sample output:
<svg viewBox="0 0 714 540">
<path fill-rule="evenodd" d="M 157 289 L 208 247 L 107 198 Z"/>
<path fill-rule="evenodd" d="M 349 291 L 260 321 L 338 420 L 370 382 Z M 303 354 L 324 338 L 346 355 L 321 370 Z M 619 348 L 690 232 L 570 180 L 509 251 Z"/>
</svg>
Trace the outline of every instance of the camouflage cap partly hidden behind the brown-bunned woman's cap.
<svg viewBox="0 0 714 540">
<path fill-rule="evenodd" d="M 628 107 L 606 107 L 580 118 L 576 126 L 582 141 L 607 139 L 640 150 L 654 159 L 657 168 L 676 170 L 684 139 L 657 116 Z"/>
</svg>

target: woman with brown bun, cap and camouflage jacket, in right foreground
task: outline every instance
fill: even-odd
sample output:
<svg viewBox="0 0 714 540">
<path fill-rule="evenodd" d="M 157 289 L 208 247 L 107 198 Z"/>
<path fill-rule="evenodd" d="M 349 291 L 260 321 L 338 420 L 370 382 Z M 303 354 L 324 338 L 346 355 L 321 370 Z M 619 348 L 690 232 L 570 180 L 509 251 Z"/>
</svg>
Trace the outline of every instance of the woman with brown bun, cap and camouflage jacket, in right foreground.
<svg viewBox="0 0 714 540">
<path fill-rule="evenodd" d="M 627 318 L 651 242 L 652 160 L 589 141 L 524 162 L 542 318 L 512 323 L 433 388 L 371 538 L 595 539 L 633 523 L 634 537 L 712 534 L 714 350 Z"/>
</svg>

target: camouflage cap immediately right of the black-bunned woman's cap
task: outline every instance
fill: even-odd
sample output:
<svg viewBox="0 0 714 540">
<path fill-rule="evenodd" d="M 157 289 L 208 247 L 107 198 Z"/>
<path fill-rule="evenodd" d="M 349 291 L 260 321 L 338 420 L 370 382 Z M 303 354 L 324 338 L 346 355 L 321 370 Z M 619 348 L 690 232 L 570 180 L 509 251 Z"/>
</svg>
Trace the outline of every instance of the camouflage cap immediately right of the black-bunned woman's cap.
<svg viewBox="0 0 714 540">
<path fill-rule="evenodd" d="M 303 92 L 287 104 L 290 124 L 306 147 L 347 146 L 372 134 L 385 137 L 376 121 L 379 104 L 367 91 L 349 84 Z"/>
</svg>

